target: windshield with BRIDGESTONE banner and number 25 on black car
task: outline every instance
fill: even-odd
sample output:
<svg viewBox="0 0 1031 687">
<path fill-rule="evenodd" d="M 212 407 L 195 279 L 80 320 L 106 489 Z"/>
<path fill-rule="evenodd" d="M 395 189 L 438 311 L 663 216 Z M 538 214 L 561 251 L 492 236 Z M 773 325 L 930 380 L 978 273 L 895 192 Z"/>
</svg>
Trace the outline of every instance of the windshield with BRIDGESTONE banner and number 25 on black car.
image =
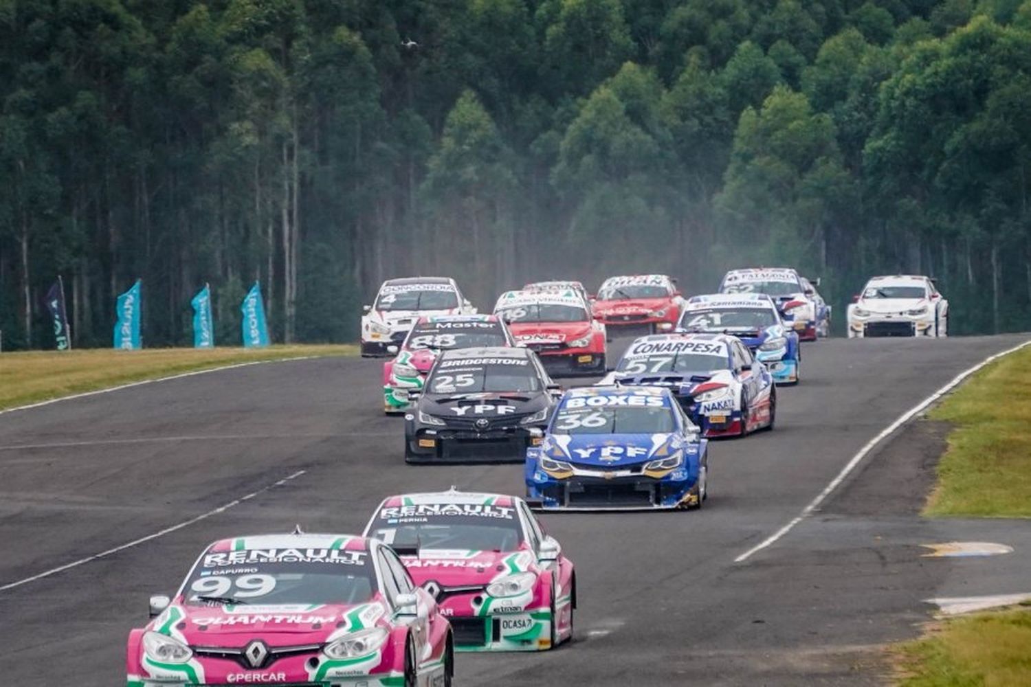
<svg viewBox="0 0 1031 687">
<path fill-rule="evenodd" d="M 483 391 L 526 393 L 543 390 L 537 369 L 526 357 L 441 360 L 430 375 L 431 393 Z"/>
</svg>

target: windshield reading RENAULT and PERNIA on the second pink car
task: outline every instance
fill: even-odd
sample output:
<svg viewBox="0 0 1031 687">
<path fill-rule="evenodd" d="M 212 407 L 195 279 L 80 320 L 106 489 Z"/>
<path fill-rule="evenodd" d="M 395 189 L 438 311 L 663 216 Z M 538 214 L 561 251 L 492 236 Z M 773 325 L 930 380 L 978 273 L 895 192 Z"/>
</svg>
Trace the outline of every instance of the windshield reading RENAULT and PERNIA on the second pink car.
<svg viewBox="0 0 1031 687">
<path fill-rule="evenodd" d="M 379 511 L 371 536 L 420 549 L 516 551 L 523 530 L 514 508 L 468 504 L 420 504 Z"/>
</svg>

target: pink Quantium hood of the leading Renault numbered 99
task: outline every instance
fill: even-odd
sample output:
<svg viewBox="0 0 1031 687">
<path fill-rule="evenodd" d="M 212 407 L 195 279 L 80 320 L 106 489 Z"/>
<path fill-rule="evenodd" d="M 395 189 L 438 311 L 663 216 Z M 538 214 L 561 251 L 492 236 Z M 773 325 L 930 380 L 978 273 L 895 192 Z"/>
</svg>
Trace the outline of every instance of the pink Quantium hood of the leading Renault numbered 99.
<svg viewBox="0 0 1031 687">
<path fill-rule="evenodd" d="M 368 627 L 386 616 L 379 600 L 358 605 L 169 606 L 154 619 L 152 628 L 191 645 L 240 645 L 240 634 L 260 636 L 266 644 L 320 644 L 342 624 L 359 620 Z"/>
</svg>

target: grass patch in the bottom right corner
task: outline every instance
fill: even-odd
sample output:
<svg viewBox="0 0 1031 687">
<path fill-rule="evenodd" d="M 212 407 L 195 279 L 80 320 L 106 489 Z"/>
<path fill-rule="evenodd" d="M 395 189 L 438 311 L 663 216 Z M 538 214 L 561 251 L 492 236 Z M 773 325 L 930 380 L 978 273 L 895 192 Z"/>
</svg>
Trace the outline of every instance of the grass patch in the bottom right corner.
<svg viewBox="0 0 1031 687">
<path fill-rule="evenodd" d="M 899 645 L 899 687 L 1031 685 L 1031 608 L 952 618 Z"/>
</svg>

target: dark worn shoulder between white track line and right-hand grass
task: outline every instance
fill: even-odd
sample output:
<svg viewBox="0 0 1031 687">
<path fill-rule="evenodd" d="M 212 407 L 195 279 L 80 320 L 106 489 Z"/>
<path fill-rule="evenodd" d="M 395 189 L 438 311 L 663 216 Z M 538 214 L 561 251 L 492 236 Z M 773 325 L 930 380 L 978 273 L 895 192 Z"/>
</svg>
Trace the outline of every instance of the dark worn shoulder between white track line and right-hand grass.
<svg viewBox="0 0 1031 687">
<path fill-rule="evenodd" d="M 937 481 L 952 425 L 921 419 L 870 455 L 823 510 L 841 515 L 919 515 Z"/>
</svg>

